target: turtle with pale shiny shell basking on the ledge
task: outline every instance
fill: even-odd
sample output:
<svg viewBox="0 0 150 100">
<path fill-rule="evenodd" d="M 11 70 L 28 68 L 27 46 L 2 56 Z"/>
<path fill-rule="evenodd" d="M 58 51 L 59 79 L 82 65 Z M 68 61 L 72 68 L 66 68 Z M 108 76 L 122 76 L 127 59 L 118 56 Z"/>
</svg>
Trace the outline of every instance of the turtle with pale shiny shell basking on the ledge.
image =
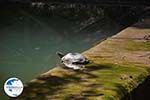
<svg viewBox="0 0 150 100">
<path fill-rule="evenodd" d="M 85 64 L 89 63 L 89 60 L 80 53 L 68 53 L 64 55 L 60 52 L 57 52 L 56 54 L 61 58 L 62 63 L 66 67 L 74 70 L 81 69 Z"/>
</svg>

